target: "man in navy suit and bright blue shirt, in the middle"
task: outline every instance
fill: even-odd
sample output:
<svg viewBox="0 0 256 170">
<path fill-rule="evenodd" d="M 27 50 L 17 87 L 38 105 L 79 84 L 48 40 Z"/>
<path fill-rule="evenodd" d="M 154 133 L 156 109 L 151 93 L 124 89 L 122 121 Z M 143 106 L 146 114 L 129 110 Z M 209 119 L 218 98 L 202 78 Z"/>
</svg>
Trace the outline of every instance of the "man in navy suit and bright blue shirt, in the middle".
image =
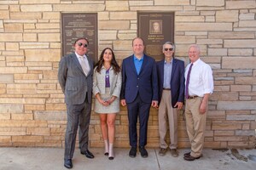
<svg viewBox="0 0 256 170">
<path fill-rule="evenodd" d="M 132 41 L 133 53 L 123 60 L 121 105 L 127 104 L 129 119 L 130 157 L 137 154 L 137 116 L 139 117 L 139 151 L 148 157 L 147 144 L 148 116 L 150 105 L 158 104 L 157 73 L 154 59 L 143 53 L 143 39 Z"/>
</svg>

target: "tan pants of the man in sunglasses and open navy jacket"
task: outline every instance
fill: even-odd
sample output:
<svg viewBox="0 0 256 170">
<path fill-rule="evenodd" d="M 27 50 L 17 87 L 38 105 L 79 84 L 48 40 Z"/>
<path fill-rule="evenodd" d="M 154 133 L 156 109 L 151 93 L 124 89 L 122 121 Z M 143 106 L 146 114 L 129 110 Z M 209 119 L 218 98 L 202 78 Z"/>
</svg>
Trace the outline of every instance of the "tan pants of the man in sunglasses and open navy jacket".
<svg viewBox="0 0 256 170">
<path fill-rule="evenodd" d="M 163 90 L 160 101 L 159 113 L 159 134 L 160 134 L 160 148 L 166 149 L 166 133 L 169 127 L 170 132 L 170 149 L 177 148 L 177 108 L 172 108 L 172 94 L 170 90 Z M 167 122 L 167 118 L 169 122 Z M 167 127 L 168 126 L 168 127 Z"/>
</svg>

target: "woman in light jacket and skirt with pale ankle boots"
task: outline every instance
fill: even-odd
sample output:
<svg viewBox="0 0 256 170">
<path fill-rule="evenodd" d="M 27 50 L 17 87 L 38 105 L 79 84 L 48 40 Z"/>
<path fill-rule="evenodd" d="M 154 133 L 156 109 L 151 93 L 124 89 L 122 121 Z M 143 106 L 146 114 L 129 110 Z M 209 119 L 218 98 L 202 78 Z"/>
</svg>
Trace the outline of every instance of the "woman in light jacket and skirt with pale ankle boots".
<svg viewBox="0 0 256 170">
<path fill-rule="evenodd" d="M 105 155 L 113 160 L 115 116 L 119 113 L 121 71 L 111 48 L 102 50 L 93 75 L 94 111 L 99 114 L 104 139 Z"/>
</svg>

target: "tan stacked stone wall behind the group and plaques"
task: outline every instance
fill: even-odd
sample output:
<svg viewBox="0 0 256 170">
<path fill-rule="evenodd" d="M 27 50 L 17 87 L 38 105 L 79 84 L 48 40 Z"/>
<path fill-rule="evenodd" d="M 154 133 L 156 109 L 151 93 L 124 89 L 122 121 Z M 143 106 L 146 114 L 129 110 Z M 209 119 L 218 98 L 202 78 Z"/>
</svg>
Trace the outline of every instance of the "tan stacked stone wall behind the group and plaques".
<svg viewBox="0 0 256 170">
<path fill-rule="evenodd" d="M 256 115 L 256 1 L 229 0 L 0 0 L 0 146 L 63 147 L 66 106 L 57 80 L 61 13 L 97 13 L 98 47 L 119 63 L 137 37 L 137 11 L 175 13 L 176 55 L 188 63 L 190 43 L 212 66 L 205 146 L 252 148 Z M 127 111 L 116 120 L 117 147 L 129 146 Z M 159 145 L 158 116 L 148 121 L 148 146 Z M 92 113 L 90 146 L 102 146 Z M 178 146 L 189 147 L 182 113 Z"/>
</svg>

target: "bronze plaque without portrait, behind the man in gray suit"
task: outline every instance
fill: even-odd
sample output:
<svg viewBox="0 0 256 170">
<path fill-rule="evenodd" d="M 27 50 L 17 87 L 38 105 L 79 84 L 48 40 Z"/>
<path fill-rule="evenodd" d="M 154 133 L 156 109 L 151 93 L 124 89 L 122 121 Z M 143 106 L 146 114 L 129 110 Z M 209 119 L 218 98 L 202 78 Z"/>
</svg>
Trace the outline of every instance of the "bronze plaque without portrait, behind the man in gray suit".
<svg viewBox="0 0 256 170">
<path fill-rule="evenodd" d="M 79 37 L 89 40 L 87 54 L 97 61 L 97 14 L 96 13 L 63 13 L 61 14 L 62 55 L 73 52 L 73 42 Z"/>
</svg>

